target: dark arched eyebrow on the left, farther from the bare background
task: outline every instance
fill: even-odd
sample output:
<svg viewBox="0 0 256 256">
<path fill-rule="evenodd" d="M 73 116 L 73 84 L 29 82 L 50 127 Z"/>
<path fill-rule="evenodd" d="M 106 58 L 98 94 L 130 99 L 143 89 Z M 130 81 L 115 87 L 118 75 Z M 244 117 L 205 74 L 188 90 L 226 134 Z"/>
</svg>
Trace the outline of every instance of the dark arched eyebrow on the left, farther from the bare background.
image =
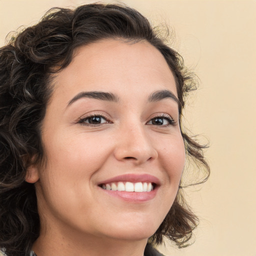
<svg viewBox="0 0 256 256">
<path fill-rule="evenodd" d="M 103 92 L 103 91 L 82 91 L 75 95 L 71 100 L 68 101 L 67 106 L 71 105 L 74 101 L 80 98 L 94 98 L 100 100 L 107 100 L 113 102 L 119 102 L 119 98 L 117 95 L 111 92 Z"/>
</svg>

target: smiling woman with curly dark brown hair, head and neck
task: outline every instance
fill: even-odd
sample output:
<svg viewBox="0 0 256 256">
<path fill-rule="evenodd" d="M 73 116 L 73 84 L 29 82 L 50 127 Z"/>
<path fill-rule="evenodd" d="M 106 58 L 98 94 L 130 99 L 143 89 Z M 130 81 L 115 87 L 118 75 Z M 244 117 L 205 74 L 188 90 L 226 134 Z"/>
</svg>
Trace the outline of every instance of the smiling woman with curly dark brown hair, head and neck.
<svg viewBox="0 0 256 256">
<path fill-rule="evenodd" d="M 0 86 L 4 253 L 187 245 L 197 218 L 181 194 L 185 157 L 209 171 L 180 122 L 193 83 L 145 17 L 116 4 L 52 9 L 0 49 Z"/>
</svg>

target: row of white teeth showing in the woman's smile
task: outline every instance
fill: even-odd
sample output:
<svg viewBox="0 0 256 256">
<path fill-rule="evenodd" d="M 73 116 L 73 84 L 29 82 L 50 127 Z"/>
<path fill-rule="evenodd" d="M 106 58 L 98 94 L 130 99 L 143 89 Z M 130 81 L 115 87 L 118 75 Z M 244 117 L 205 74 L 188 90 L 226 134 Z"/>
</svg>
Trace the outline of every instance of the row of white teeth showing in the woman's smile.
<svg viewBox="0 0 256 256">
<path fill-rule="evenodd" d="M 102 189 L 126 192 L 150 192 L 154 189 L 155 183 L 152 182 L 111 182 L 99 184 Z"/>
</svg>

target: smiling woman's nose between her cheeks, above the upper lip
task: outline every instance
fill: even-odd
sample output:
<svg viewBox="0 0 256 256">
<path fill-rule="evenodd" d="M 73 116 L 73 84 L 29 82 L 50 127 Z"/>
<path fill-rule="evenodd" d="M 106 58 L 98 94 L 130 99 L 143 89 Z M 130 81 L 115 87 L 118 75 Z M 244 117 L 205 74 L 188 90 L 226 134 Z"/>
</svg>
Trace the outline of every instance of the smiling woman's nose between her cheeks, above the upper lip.
<svg viewBox="0 0 256 256">
<path fill-rule="evenodd" d="M 114 156 L 119 161 L 132 161 L 134 164 L 157 158 L 157 150 L 154 148 L 149 134 L 143 125 L 119 130 Z"/>
</svg>

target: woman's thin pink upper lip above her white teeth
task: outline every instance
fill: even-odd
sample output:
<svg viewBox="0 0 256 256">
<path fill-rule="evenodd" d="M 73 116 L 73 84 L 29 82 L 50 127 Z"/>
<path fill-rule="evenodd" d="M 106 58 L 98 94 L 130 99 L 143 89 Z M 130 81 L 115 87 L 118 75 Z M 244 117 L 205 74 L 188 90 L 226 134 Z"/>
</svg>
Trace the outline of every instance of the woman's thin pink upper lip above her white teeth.
<svg viewBox="0 0 256 256">
<path fill-rule="evenodd" d="M 160 184 L 160 180 L 150 174 L 122 174 L 122 175 L 118 175 L 115 177 L 111 177 L 105 180 L 102 180 L 98 183 L 98 185 L 100 184 L 106 184 L 106 183 L 111 183 L 111 182 L 118 182 L 118 181 L 122 181 L 122 182 L 151 182 L 151 183 L 155 183 L 156 185 Z"/>
</svg>

